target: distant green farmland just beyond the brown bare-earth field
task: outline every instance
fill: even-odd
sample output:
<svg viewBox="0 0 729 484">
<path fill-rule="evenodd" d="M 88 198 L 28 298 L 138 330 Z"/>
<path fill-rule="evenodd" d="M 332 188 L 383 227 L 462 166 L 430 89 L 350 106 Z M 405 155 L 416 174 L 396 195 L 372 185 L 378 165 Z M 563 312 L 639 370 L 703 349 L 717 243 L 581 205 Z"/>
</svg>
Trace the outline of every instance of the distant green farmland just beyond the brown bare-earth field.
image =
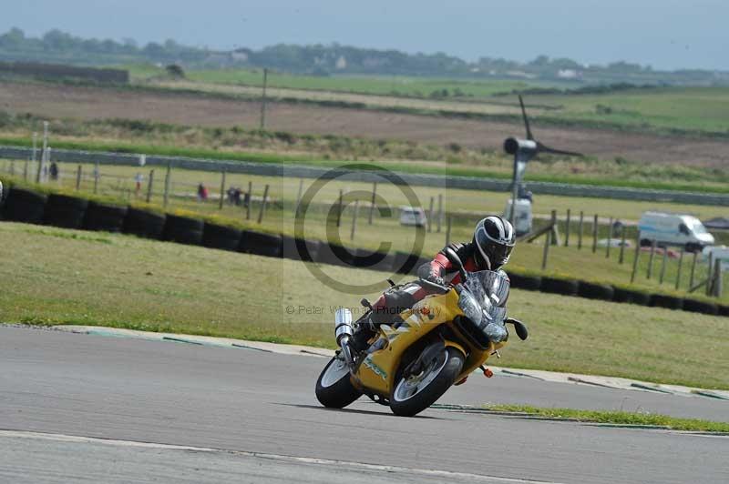
<svg viewBox="0 0 729 484">
<path fill-rule="evenodd" d="M 149 66 L 131 66 L 130 71 L 137 82 L 149 82 L 155 76 L 163 75 L 161 69 L 156 71 Z M 186 88 L 194 89 L 197 83 L 200 90 L 205 90 L 207 85 L 231 86 L 231 92 L 235 92 L 234 86 L 262 86 L 262 70 L 190 71 L 187 78 L 192 84 L 185 84 Z M 401 96 L 427 98 L 432 102 L 430 109 L 434 112 L 444 109 L 479 112 L 472 103 L 459 106 L 450 102 L 453 99 L 470 100 L 486 103 L 483 108 L 486 114 L 493 111 L 493 106 L 513 106 L 513 99 L 495 95 L 533 87 L 569 89 L 580 86 L 480 79 L 293 76 L 282 73 L 272 73 L 268 84 L 280 89 L 391 96 L 390 106 L 403 106 L 397 99 Z M 442 96 L 444 90 L 447 96 Z M 436 96 L 438 92 L 440 96 Z M 294 94 L 289 93 L 290 96 Z M 279 95 L 285 96 L 285 92 Z M 636 88 L 601 95 L 569 92 L 561 95 L 529 94 L 526 99 L 531 116 L 538 118 L 540 125 L 582 124 L 663 134 L 685 132 L 683 134 L 729 136 L 729 116 L 726 115 L 729 87 L 725 86 Z M 377 105 L 382 106 L 382 103 L 378 101 Z"/>
</svg>

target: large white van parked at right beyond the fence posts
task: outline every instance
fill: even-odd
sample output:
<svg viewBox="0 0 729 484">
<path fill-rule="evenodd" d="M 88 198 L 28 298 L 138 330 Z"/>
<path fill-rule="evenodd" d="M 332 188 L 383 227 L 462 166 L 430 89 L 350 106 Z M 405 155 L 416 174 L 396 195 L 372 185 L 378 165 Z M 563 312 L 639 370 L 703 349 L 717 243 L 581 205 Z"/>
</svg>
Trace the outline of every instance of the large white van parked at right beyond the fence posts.
<svg viewBox="0 0 729 484">
<path fill-rule="evenodd" d="M 684 246 L 690 251 L 714 245 L 714 236 L 698 218 L 690 215 L 645 212 L 638 229 L 643 246 L 651 245 L 653 240 L 663 245 Z"/>
</svg>

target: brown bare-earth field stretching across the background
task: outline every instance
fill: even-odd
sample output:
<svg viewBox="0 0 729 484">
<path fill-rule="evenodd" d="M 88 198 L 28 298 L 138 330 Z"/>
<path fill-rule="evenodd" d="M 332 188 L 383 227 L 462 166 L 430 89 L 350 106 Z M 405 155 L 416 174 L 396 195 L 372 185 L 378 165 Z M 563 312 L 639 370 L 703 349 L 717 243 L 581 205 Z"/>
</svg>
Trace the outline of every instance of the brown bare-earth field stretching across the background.
<svg viewBox="0 0 729 484">
<path fill-rule="evenodd" d="M 259 126 L 261 104 L 175 93 L 149 93 L 104 87 L 0 84 L 0 110 L 49 117 L 149 119 L 201 126 Z M 372 110 L 269 103 L 266 127 L 293 133 L 337 134 L 376 139 L 500 149 L 523 127 L 490 121 L 401 115 Z M 729 141 L 653 136 L 593 129 L 532 126 L 554 147 L 611 159 L 725 167 Z"/>
</svg>

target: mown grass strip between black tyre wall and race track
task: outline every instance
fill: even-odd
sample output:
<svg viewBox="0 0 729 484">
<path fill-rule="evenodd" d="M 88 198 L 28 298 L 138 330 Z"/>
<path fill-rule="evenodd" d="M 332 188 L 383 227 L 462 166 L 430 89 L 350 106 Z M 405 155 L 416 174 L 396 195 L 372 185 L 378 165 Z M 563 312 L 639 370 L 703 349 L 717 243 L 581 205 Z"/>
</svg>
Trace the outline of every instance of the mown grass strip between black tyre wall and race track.
<svg viewBox="0 0 729 484">
<path fill-rule="evenodd" d="M 0 224 L 0 239 L 2 322 L 103 325 L 332 348 L 330 307 L 357 307 L 360 297 L 374 296 L 323 286 L 303 263 L 290 260 L 13 223 Z M 323 268 L 339 280 L 383 277 Z M 519 290 L 509 308 L 529 322 L 530 338 L 505 348 L 499 365 L 729 388 L 727 318 Z"/>
</svg>

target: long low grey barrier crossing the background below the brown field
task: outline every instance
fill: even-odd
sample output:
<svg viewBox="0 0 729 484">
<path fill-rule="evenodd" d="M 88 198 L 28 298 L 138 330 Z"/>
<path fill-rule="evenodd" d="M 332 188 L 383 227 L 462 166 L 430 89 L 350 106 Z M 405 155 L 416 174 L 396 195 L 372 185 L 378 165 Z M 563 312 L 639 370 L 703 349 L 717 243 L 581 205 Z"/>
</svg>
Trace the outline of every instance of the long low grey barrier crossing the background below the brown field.
<svg viewBox="0 0 729 484">
<path fill-rule="evenodd" d="M 0 146 L 0 158 L 30 159 L 33 149 L 25 146 Z M 54 149 L 55 161 L 69 163 L 99 163 L 101 165 L 139 166 L 139 155 L 110 153 L 105 151 L 81 151 Z M 508 191 L 511 182 L 497 178 L 473 176 L 438 176 L 387 171 L 333 170 L 316 166 L 281 165 L 275 163 L 252 163 L 234 160 L 213 160 L 185 156 L 147 156 L 149 166 L 168 166 L 201 171 L 244 173 L 259 176 L 287 176 L 294 178 L 337 177 L 346 181 L 366 183 L 382 182 L 388 179 L 395 185 L 405 183 L 412 187 L 449 187 L 467 190 Z M 621 200 L 643 200 L 649 202 L 672 202 L 695 205 L 729 207 L 729 195 L 673 190 L 650 190 L 629 187 L 600 187 L 566 183 L 529 182 L 529 190 L 535 194 L 567 197 L 617 198 Z"/>
</svg>

